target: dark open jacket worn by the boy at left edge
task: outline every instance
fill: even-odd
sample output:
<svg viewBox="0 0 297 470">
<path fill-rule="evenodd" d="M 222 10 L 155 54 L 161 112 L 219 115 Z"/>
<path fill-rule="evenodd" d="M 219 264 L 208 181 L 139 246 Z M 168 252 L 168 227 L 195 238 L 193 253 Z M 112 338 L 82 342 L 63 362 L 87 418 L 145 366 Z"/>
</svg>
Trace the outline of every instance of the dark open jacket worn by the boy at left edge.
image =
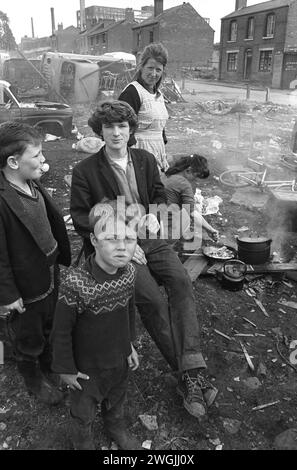
<svg viewBox="0 0 297 470">
<path fill-rule="evenodd" d="M 70 244 L 62 214 L 42 185 L 36 184 L 58 243 L 57 262 L 69 266 Z M 48 291 L 50 281 L 47 257 L 34 238 L 15 190 L 0 171 L 0 305 L 9 305 L 20 297 L 24 301 L 39 297 Z"/>
</svg>

